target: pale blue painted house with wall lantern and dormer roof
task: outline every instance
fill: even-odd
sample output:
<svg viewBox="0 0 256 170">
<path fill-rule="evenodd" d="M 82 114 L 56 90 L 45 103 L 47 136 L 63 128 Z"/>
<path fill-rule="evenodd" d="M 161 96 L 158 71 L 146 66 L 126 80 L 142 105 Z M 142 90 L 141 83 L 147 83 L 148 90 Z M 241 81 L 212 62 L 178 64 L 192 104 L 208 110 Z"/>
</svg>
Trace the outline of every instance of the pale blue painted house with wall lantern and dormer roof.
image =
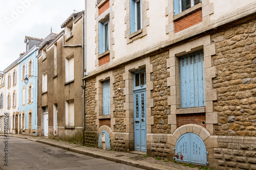
<svg viewBox="0 0 256 170">
<path fill-rule="evenodd" d="M 25 37 L 26 53 L 19 64 L 19 119 L 21 134 L 37 135 L 37 60 L 38 48 L 43 39 Z"/>
</svg>

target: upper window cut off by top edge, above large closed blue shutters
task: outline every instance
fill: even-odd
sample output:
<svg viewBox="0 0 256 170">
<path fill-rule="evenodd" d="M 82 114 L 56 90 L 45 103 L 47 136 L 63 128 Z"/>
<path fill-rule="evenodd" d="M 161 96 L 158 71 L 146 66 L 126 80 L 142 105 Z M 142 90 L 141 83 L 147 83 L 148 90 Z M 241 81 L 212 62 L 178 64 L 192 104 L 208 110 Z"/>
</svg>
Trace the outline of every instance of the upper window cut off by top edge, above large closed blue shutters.
<svg viewBox="0 0 256 170">
<path fill-rule="evenodd" d="M 174 0 L 174 15 L 193 7 L 200 2 L 201 0 Z"/>
</svg>

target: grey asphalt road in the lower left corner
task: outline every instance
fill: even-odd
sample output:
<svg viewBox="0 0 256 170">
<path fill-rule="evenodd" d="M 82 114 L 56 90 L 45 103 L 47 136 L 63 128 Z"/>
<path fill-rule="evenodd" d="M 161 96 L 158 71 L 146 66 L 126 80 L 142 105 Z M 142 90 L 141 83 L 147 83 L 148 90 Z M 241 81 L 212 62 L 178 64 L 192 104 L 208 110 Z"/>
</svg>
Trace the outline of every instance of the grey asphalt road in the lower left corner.
<svg viewBox="0 0 256 170">
<path fill-rule="evenodd" d="M 140 168 L 73 153 L 28 139 L 16 137 L 4 139 L 4 136 L 0 136 L 0 169 L 138 170 Z"/>
</svg>

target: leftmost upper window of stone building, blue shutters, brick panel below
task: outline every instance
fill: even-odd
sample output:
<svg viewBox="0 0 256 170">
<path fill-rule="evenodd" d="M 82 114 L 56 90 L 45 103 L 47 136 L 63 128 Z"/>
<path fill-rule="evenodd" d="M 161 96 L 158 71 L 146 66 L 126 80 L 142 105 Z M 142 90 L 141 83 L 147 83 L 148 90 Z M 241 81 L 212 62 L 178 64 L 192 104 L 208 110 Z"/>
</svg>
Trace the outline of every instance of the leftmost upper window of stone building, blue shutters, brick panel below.
<svg viewBox="0 0 256 170">
<path fill-rule="evenodd" d="M 110 24 L 109 20 L 103 23 L 99 22 L 99 54 L 110 49 Z"/>
</svg>

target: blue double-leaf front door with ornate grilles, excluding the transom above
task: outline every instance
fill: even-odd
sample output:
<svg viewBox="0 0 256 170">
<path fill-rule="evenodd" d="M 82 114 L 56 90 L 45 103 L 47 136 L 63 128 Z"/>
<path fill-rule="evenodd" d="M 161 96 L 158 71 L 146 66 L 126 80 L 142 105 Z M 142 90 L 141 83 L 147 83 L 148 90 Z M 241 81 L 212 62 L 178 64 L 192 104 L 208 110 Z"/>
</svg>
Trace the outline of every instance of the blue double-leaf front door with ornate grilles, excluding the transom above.
<svg viewBox="0 0 256 170">
<path fill-rule="evenodd" d="M 146 92 L 134 93 L 134 145 L 136 151 L 146 152 Z"/>
</svg>

